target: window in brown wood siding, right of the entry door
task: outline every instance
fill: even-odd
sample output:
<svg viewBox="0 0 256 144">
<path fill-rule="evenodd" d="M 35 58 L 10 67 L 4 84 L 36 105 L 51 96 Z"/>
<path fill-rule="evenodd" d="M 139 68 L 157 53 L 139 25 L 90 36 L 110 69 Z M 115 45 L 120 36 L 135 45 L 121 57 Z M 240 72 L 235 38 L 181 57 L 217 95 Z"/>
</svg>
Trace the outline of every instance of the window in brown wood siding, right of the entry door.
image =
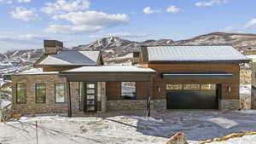
<svg viewBox="0 0 256 144">
<path fill-rule="evenodd" d="M 121 82 L 121 95 L 125 100 L 136 100 L 136 82 Z"/>
</svg>

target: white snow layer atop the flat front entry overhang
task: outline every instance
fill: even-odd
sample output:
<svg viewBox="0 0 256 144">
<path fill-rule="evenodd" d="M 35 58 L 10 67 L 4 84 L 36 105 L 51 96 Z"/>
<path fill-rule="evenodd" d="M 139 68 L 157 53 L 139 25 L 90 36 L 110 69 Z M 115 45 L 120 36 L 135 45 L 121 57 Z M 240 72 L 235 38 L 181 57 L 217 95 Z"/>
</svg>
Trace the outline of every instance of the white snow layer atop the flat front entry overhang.
<svg viewBox="0 0 256 144">
<path fill-rule="evenodd" d="M 82 66 L 62 72 L 155 72 L 151 68 L 137 66 Z"/>
</svg>

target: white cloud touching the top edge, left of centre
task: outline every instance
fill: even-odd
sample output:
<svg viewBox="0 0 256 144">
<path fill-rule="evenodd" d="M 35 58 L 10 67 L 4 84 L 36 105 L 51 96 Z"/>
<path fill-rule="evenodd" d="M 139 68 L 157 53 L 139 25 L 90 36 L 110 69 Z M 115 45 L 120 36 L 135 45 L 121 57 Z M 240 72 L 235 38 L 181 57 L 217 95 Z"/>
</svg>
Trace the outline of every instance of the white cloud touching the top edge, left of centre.
<svg viewBox="0 0 256 144">
<path fill-rule="evenodd" d="M 46 14 L 60 14 L 64 12 L 73 12 L 88 9 L 89 0 L 56 0 L 55 3 L 45 3 L 41 10 Z"/>
</svg>

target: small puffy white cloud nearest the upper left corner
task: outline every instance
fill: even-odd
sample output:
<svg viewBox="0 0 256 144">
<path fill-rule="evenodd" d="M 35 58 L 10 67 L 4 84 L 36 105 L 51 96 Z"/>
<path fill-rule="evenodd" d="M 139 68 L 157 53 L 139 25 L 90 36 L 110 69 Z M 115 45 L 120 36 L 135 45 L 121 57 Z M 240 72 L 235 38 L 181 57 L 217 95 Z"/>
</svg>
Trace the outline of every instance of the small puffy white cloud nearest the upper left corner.
<svg viewBox="0 0 256 144">
<path fill-rule="evenodd" d="M 39 15 L 35 14 L 35 11 L 33 9 L 26 9 L 23 7 L 17 7 L 15 11 L 11 12 L 11 15 L 13 18 L 19 20 L 40 20 Z"/>
</svg>

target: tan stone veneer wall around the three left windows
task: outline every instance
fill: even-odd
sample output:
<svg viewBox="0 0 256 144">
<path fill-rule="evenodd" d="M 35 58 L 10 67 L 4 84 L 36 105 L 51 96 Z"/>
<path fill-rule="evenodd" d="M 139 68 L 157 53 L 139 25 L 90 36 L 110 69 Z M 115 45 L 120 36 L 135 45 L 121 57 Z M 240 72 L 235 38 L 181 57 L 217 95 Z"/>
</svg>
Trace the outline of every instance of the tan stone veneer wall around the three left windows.
<svg viewBox="0 0 256 144">
<path fill-rule="evenodd" d="M 55 84 L 66 82 L 66 78 L 50 75 L 13 75 L 12 107 L 14 113 L 51 113 L 67 112 L 67 97 L 64 103 L 55 103 Z M 36 103 L 36 84 L 46 84 L 46 102 Z M 16 84 L 26 84 L 26 103 L 16 103 Z M 71 83 L 72 109 L 79 112 L 79 84 Z"/>
</svg>

